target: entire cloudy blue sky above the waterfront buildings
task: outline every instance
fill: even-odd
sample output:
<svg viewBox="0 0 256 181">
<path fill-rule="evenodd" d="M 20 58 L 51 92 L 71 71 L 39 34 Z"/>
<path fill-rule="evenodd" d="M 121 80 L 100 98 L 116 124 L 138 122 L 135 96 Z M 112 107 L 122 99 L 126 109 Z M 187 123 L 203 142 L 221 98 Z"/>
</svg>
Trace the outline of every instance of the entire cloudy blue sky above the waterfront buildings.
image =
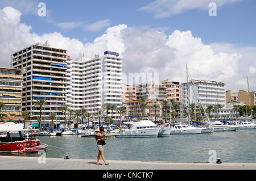
<svg viewBox="0 0 256 181">
<path fill-rule="evenodd" d="M 68 50 L 76 59 L 120 53 L 124 82 L 224 82 L 256 91 L 255 0 L 0 0 L 0 66 L 34 43 Z M 153 74 L 153 76 L 151 76 Z"/>
</svg>

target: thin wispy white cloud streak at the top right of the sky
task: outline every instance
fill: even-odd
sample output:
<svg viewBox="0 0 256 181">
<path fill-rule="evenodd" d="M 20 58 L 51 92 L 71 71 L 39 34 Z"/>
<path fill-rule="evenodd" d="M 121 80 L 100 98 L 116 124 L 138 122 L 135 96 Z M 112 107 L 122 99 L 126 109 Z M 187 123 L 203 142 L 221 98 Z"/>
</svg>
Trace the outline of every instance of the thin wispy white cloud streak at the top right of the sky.
<svg viewBox="0 0 256 181">
<path fill-rule="evenodd" d="M 210 2 L 214 2 L 217 7 L 220 7 L 227 3 L 240 1 L 243 0 L 156 0 L 139 10 L 152 13 L 155 18 L 166 18 L 191 9 L 209 10 Z"/>
</svg>

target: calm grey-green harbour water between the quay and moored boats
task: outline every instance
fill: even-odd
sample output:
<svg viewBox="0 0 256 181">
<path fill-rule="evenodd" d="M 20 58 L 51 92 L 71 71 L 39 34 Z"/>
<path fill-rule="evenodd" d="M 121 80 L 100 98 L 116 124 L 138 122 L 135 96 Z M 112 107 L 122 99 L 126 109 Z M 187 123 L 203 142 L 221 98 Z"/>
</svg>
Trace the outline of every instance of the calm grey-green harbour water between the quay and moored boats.
<svg viewBox="0 0 256 181">
<path fill-rule="evenodd" d="M 216 150 L 222 162 L 256 163 L 256 129 L 210 134 L 170 135 L 156 138 L 108 138 L 105 158 L 130 161 L 208 162 L 209 150 Z M 96 159 L 95 138 L 80 135 L 42 137 L 48 144 L 47 157 Z M 12 154 L 39 157 L 37 153 Z"/>
</svg>

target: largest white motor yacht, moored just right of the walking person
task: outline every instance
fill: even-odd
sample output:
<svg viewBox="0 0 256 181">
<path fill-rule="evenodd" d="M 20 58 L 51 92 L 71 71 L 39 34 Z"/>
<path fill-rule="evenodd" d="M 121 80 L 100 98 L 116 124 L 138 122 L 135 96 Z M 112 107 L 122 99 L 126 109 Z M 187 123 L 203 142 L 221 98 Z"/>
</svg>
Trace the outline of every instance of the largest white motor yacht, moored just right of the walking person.
<svg viewBox="0 0 256 181">
<path fill-rule="evenodd" d="M 158 137 L 159 129 L 152 121 L 125 122 L 128 128 L 122 129 L 116 137 Z"/>
</svg>

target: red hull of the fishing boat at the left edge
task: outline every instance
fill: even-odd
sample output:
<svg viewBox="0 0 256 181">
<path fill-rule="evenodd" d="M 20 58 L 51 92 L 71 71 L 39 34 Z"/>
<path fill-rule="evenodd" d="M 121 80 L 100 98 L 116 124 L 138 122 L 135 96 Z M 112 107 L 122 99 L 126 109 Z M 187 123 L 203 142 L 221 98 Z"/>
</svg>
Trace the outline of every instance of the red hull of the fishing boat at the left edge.
<svg viewBox="0 0 256 181">
<path fill-rule="evenodd" d="M 15 142 L 0 142 L 0 153 L 19 153 L 24 152 L 24 149 L 31 146 L 39 146 L 39 140 L 31 141 L 15 141 Z"/>
</svg>

